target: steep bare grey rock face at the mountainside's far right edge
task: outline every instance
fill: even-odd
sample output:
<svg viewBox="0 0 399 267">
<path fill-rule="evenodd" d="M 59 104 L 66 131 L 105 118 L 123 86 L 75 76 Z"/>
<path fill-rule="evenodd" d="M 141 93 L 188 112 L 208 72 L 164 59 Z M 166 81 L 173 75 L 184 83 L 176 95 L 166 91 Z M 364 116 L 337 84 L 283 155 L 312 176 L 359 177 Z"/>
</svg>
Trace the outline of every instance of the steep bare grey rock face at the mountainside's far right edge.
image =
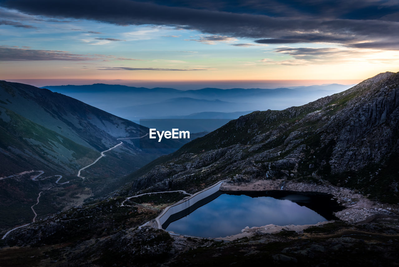
<svg viewBox="0 0 399 267">
<path fill-rule="evenodd" d="M 370 163 L 381 162 L 391 151 L 397 151 L 398 84 L 397 74 L 373 81 L 363 94 L 330 118 L 322 130 L 330 133 L 326 140 L 334 138 L 336 141 L 330 160 L 333 172 L 361 169 Z M 366 87 L 366 84 L 362 86 Z M 354 89 L 355 92 L 362 90 L 359 87 Z"/>
</svg>

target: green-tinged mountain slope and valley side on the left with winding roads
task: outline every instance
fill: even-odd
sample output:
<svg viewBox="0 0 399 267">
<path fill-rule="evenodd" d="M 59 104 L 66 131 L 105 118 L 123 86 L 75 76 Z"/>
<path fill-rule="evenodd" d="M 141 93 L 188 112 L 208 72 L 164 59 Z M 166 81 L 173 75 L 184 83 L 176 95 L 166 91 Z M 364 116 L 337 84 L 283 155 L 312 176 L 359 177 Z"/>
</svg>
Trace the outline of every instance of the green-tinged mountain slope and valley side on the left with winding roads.
<svg viewBox="0 0 399 267">
<path fill-rule="evenodd" d="M 139 140 L 146 143 L 148 136 L 124 139 L 83 170 L 81 176 L 87 179 L 82 180 L 76 177 L 78 170 L 119 144 L 117 138 L 140 137 L 148 128 L 27 84 L 0 81 L 0 99 L 0 178 L 11 176 L 0 179 L 0 229 L 31 222 L 30 206 L 43 190 L 35 208 L 39 218 L 112 192 L 126 174 L 181 145 L 170 140 L 164 149 L 140 149 Z M 44 174 L 32 181 L 38 171 Z M 17 175 L 24 172 L 29 173 Z M 51 175 L 71 183 L 58 186 Z"/>
</svg>

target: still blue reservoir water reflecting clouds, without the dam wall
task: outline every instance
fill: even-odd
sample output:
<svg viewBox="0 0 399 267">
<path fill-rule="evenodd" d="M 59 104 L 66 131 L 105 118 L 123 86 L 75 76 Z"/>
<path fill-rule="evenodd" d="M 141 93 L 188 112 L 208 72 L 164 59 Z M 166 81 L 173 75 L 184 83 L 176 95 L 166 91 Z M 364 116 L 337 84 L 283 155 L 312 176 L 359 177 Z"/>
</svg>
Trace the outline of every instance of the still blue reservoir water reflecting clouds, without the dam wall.
<svg viewBox="0 0 399 267">
<path fill-rule="evenodd" d="M 239 234 L 245 226 L 316 224 L 334 218 L 331 209 L 334 203 L 330 196 L 306 196 L 288 191 L 270 194 L 274 197 L 257 195 L 217 194 L 210 202 L 190 210 L 190 214 L 186 212 L 180 215 L 182 218 L 174 218 L 174 222 L 163 225 L 164 229 L 178 234 L 217 238 Z M 318 210 L 325 217 L 306 206 Z"/>
</svg>

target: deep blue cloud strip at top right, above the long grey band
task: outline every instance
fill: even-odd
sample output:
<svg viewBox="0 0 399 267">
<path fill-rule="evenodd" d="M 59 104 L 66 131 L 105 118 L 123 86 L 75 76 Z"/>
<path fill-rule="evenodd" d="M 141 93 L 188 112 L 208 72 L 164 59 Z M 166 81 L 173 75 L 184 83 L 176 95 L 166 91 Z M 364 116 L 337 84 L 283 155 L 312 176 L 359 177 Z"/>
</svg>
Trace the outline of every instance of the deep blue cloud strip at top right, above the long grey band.
<svg viewBox="0 0 399 267">
<path fill-rule="evenodd" d="M 138 2 L 148 2 L 138 0 Z M 318 17 L 342 19 L 379 19 L 399 12 L 397 0 L 152 0 L 170 7 L 262 14 L 271 17 Z"/>
</svg>

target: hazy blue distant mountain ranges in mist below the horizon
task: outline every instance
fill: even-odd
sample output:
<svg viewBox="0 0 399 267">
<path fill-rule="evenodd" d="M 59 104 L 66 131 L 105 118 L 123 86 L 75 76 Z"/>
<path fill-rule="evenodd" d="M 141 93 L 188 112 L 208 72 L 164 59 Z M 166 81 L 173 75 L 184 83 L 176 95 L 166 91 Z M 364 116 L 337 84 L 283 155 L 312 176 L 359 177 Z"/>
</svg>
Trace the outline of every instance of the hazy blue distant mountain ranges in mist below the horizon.
<svg viewBox="0 0 399 267">
<path fill-rule="evenodd" d="M 191 116 L 214 119 L 222 116 L 238 118 L 233 112 L 244 110 L 280 110 L 305 104 L 350 86 L 327 84 L 292 88 L 203 88 L 177 90 L 173 88 L 144 88 L 111 84 L 44 86 L 87 102 L 93 106 L 133 121 L 148 118 Z M 201 112 L 217 112 L 201 113 Z M 230 113 L 224 114 L 223 113 Z M 240 113 L 241 114 L 241 113 Z M 213 116 L 215 115 L 215 116 Z"/>
</svg>

